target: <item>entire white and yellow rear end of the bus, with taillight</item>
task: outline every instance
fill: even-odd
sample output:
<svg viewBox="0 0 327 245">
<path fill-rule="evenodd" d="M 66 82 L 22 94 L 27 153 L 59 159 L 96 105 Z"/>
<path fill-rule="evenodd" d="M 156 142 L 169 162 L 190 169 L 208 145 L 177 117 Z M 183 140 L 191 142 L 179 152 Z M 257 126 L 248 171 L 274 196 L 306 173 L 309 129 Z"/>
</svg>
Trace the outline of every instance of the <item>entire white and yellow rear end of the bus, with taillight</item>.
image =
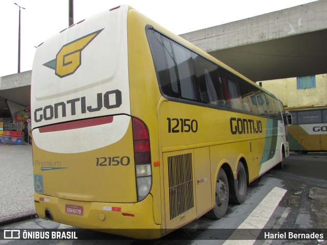
<svg viewBox="0 0 327 245">
<path fill-rule="evenodd" d="M 34 202 L 41 218 L 155 238 L 149 132 L 130 112 L 127 13 L 105 11 L 37 48 Z"/>
</svg>

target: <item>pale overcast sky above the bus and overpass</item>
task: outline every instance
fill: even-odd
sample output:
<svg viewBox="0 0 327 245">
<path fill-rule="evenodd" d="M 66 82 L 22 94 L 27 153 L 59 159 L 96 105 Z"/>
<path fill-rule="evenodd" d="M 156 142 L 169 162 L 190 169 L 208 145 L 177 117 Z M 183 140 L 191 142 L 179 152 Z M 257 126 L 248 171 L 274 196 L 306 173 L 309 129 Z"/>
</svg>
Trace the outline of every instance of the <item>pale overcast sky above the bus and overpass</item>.
<svg viewBox="0 0 327 245">
<path fill-rule="evenodd" d="M 266 14 L 313 0 L 75 0 L 74 22 L 128 4 L 179 35 Z M 0 0 L 0 77 L 32 69 L 36 46 L 68 27 L 68 0 Z"/>
</svg>

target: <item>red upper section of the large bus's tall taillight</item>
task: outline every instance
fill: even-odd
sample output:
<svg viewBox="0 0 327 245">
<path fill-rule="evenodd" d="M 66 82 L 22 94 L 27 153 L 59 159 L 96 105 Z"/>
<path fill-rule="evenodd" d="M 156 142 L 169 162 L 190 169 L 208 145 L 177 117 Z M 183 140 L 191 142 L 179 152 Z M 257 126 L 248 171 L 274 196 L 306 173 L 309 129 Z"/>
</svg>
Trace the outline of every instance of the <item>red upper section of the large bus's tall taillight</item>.
<svg viewBox="0 0 327 245">
<path fill-rule="evenodd" d="M 150 139 L 147 126 L 137 118 L 133 118 L 132 122 L 135 164 L 150 164 Z"/>
</svg>

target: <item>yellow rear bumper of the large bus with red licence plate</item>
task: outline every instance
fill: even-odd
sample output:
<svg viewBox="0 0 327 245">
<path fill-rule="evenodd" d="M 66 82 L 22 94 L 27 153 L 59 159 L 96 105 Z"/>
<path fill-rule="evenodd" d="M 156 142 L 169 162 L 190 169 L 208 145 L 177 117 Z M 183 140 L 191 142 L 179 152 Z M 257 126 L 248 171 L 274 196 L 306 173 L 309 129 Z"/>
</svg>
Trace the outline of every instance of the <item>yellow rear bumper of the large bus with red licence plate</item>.
<svg viewBox="0 0 327 245">
<path fill-rule="evenodd" d="M 34 192 L 40 218 L 83 229 L 137 239 L 161 237 L 161 226 L 153 220 L 152 195 L 139 203 L 81 202 Z"/>
</svg>

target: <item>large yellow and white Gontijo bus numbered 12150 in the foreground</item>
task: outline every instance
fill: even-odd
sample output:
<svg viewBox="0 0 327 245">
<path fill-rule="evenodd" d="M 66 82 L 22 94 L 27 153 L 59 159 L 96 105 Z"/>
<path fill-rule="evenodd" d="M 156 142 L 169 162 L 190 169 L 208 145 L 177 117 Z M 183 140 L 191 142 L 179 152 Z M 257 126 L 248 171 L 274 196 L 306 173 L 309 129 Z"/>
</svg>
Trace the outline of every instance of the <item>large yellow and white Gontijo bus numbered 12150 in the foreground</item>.
<svg viewBox="0 0 327 245">
<path fill-rule="evenodd" d="M 40 44 L 31 91 L 36 212 L 58 223 L 158 238 L 289 155 L 281 101 L 129 6 Z"/>
</svg>

